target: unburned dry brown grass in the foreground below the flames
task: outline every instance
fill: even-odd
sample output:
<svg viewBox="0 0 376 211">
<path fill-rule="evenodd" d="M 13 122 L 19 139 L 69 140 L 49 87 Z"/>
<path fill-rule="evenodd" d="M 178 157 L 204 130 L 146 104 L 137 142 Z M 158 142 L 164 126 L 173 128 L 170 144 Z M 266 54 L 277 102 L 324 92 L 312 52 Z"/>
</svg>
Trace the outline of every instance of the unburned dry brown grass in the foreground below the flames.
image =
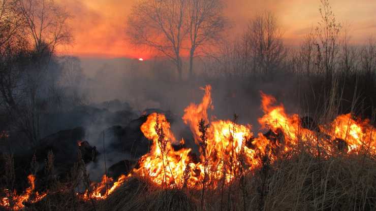
<svg viewBox="0 0 376 211">
<path fill-rule="evenodd" d="M 266 175 L 261 167 L 245 175 L 245 183 L 240 181 L 241 177 L 235 177 L 231 189 L 226 186 L 224 193 L 220 186 L 208 188 L 203 210 L 244 210 L 244 207 L 245 210 L 376 209 L 374 155 L 338 152 L 318 160 L 306 146 L 300 146 L 280 157 L 270 164 Z M 265 190 L 261 196 L 263 180 Z M 246 190 L 246 195 L 242 189 Z M 230 197 L 221 207 L 222 194 Z M 97 204 L 97 210 L 201 210 L 200 207 L 200 190 L 165 191 L 137 176 Z M 89 204 L 86 208 L 92 210 Z"/>
</svg>

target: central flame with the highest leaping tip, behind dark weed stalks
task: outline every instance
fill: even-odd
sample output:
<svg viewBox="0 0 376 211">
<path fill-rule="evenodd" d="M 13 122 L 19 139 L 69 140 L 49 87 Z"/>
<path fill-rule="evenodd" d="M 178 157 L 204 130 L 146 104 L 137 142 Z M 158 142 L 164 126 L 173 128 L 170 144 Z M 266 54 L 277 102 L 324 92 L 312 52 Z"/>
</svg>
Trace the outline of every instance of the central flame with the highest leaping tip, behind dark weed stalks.
<svg viewBox="0 0 376 211">
<path fill-rule="evenodd" d="M 185 108 L 182 117 L 184 123 L 189 124 L 194 134 L 195 142 L 199 146 L 199 121 L 204 120 L 209 123 L 207 110 L 214 108 L 211 104 L 211 86 L 201 89 L 205 91 L 202 102 L 200 104 L 191 103 L 189 107 Z M 200 178 L 197 181 L 202 181 L 205 174 L 208 174 L 206 175 L 208 183 L 215 184 L 217 180 L 221 179 L 230 182 L 231 175 L 238 171 L 237 160 L 241 151 L 245 153 L 246 158 L 249 158 L 247 160 L 250 161 L 250 164 L 255 164 L 252 159 L 255 151 L 245 146 L 245 140 L 249 140 L 253 136 L 250 129 L 250 125 L 239 125 L 230 120 L 215 120 L 209 123 L 205 156 L 203 147 L 200 147 L 200 163 L 197 164 L 200 170 Z M 214 173 L 207 173 L 204 170 L 205 160 L 210 161 L 207 162 L 207 169 Z"/>
</svg>

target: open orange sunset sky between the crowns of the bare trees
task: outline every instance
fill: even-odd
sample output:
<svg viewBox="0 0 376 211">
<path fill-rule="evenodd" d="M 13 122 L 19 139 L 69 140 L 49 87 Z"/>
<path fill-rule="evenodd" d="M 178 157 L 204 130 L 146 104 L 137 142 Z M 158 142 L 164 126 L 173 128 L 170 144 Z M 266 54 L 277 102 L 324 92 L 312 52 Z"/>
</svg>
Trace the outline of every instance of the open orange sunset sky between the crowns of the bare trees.
<svg viewBox="0 0 376 211">
<path fill-rule="evenodd" d="M 58 49 L 60 54 L 80 57 L 150 57 L 126 39 L 126 20 L 137 0 L 60 0 L 71 14 L 74 41 Z M 226 0 L 224 15 L 231 34 L 240 34 L 255 15 L 270 11 L 278 18 L 288 45 L 299 45 L 320 21 L 320 0 Z M 375 0 L 331 0 L 337 19 L 350 31 L 351 41 L 365 42 L 376 32 Z"/>
</svg>

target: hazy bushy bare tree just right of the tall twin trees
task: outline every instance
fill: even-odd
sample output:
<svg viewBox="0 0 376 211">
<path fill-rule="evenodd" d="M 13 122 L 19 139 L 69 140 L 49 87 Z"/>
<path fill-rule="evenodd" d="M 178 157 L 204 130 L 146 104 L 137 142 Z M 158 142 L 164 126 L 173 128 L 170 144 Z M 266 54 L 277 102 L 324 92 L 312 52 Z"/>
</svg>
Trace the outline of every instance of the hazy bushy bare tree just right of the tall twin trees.
<svg viewBox="0 0 376 211">
<path fill-rule="evenodd" d="M 250 20 L 240 38 L 221 45 L 214 68 L 227 78 L 262 76 L 271 79 L 277 70 L 286 69 L 289 62 L 282 36 L 271 13 L 258 15 Z"/>
</svg>

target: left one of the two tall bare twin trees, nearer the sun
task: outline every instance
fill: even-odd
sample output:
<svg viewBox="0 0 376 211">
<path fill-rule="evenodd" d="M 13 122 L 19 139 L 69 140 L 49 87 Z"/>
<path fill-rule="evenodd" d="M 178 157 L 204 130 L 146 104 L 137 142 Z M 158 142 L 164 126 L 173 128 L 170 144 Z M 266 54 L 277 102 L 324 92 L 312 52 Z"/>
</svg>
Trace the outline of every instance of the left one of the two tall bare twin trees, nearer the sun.
<svg viewBox="0 0 376 211">
<path fill-rule="evenodd" d="M 187 0 L 139 1 L 133 6 L 127 22 L 127 35 L 131 42 L 151 47 L 168 57 L 176 65 L 180 80 L 186 6 Z"/>
</svg>

